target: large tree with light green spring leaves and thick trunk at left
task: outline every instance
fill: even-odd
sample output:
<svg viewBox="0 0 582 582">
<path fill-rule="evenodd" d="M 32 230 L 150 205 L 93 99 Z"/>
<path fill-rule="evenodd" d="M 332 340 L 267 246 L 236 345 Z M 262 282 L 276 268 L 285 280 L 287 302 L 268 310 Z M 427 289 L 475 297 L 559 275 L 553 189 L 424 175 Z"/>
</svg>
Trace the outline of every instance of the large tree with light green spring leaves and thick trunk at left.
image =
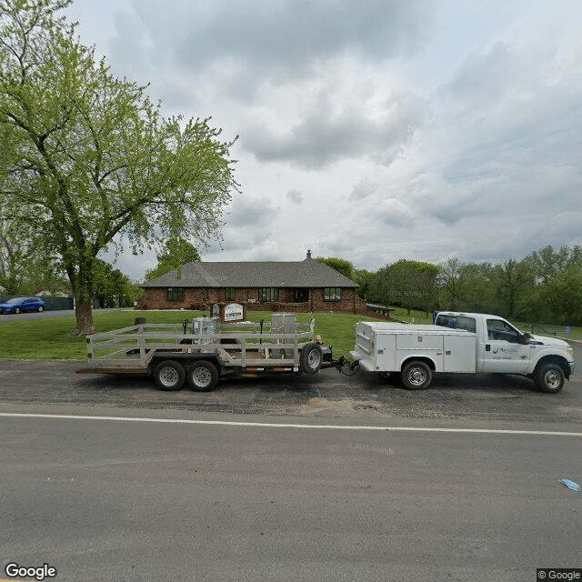
<svg viewBox="0 0 582 582">
<path fill-rule="evenodd" d="M 146 87 L 97 62 L 58 16 L 69 4 L 0 2 L 0 202 L 23 239 L 58 257 L 89 333 L 99 252 L 205 244 L 236 182 L 232 142 L 208 120 L 164 118 Z"/>
</svg>

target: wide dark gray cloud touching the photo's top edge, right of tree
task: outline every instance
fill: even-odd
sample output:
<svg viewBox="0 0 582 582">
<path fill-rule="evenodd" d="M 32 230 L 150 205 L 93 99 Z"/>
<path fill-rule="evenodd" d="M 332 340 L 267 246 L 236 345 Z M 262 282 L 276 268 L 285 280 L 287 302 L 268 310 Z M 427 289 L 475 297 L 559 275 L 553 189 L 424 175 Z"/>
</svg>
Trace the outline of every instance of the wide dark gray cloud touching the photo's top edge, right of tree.
<svg viewBox="0 0 582 582">
<path fill-rule="evenodd" d="M 153 26 L 151 15 L 159 17 L 159 5 L 153 0 L 133 5 Z M 236 55 L 241 65 L 284 66 L 289 73 L 346 50 L 374 59 L 410 54 L 424 37 L 431 13 L 426 0 L 369 0 L 366 5 L 357 0 L 214 0 L 181 5 L 180 32 L 175 28 L 173 37 L 176 58 L 188 67 Z"/>
</svg>

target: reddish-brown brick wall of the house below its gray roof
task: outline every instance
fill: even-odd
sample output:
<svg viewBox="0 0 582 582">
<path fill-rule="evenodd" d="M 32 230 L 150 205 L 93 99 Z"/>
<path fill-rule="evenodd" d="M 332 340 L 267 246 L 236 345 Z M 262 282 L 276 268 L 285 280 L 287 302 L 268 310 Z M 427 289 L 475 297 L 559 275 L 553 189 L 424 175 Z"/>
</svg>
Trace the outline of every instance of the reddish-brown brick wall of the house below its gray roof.
<svg viewBox="0 0 582 582">
<path fill-rule="evenodd" d="M 136 309 L 209 309 L 215 303 L 230 303 L 224 289 L 186 287 L 184 299 L 169 301 L 165 288 L 146 289 L 146 295 L 137 300 Z M 312 311 L 333 311 L 336 313 L 366 314 L 366 301 L 360 299 L 356 289 L 342 289 L 340 301 L 326 301 L 323 289 L 310 289 L 309 300 L 294 303 L 291 289 L 280 289 L 279 300 L 259 303 L 258 289 L 236 289 L 234 301 L 251 311 L 287 311 L 310 313 Z"/>
</svg>

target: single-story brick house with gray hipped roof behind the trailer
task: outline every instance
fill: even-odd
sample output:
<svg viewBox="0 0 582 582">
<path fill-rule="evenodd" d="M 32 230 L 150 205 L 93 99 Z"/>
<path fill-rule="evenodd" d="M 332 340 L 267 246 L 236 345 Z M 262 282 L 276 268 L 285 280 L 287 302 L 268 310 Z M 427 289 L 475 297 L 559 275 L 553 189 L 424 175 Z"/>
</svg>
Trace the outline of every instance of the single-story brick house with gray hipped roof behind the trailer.
<svg viewBox="0 0 582 582">
<path fill-rule="evenodd" d="M 296 262 L 193 262 L 144 285 L 136 309 L 209 309 L 239 303 L 251 311 L 366 313 L 357 285 L 307 251 Z"/>
</svg>

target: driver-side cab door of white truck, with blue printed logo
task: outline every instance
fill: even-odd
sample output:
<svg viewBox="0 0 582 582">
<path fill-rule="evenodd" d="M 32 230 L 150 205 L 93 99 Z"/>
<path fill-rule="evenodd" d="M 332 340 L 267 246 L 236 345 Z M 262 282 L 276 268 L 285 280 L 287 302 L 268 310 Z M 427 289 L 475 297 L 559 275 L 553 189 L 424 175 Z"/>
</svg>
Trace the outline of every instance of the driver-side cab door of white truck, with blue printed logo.
<svg viewBox="0 0 582 582">
<path fill-rule="evenodd" d="M 523 344 L 523 336 L 517 329 L 503 319 L 487 319 L 486 331 L 483 371 L 525 374 L 531 348 Z"/>
</svg>

